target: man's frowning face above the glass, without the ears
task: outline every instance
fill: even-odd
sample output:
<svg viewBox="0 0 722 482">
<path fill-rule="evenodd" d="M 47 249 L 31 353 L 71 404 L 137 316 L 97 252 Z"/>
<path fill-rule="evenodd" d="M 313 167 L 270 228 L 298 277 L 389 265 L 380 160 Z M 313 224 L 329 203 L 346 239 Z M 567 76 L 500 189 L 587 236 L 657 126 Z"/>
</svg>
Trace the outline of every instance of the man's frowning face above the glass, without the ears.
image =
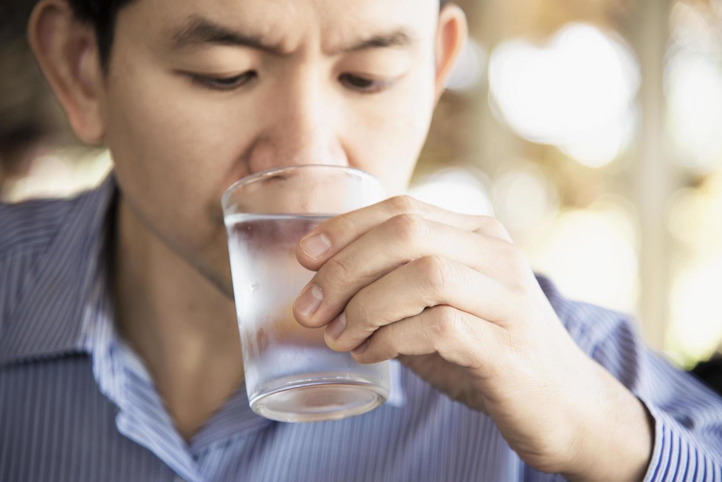
<svg viewBox="0 0 722 482">
<path fill-rule="evenodd" d="M 230 292 L 220 197 L 282 165 L 409 183 L 435 104 L 438 0 L 137 0 L 103 92 L 124 199 Z"/>
</svg>

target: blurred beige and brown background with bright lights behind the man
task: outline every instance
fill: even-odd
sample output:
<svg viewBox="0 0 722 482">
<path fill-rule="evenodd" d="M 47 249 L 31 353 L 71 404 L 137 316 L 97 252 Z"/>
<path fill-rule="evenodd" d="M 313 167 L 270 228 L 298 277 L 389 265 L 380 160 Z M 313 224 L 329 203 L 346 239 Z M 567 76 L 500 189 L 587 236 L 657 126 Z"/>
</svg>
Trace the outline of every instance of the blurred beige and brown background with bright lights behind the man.
<svg viewBox="0 0 722 482">
<path fill-rule="evenodd" d="M 69 133 L 0 3 L 0 199 L 110 169 Z M 627 312 L 682 367 L 722 341 L 722 0 L 459 0 L 471 42 L 411 194 L 497 216 L 573 299 Z"/>
</svg>

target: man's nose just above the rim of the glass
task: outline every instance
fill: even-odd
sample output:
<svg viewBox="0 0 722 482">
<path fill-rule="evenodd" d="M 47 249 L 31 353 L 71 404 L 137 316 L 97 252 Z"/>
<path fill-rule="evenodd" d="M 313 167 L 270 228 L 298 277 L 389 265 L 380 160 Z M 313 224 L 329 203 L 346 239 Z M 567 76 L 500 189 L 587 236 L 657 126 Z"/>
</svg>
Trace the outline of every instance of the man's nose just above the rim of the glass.
<svg viewBox="0 0 722 482">
<path fill-rule="evenodd" d="M 288 165 L 349 165 L 332 94 L 313 77 L 285 82 L 266 110 L 263 133 L 251 152 L 251 172 Z"/>
</svg>

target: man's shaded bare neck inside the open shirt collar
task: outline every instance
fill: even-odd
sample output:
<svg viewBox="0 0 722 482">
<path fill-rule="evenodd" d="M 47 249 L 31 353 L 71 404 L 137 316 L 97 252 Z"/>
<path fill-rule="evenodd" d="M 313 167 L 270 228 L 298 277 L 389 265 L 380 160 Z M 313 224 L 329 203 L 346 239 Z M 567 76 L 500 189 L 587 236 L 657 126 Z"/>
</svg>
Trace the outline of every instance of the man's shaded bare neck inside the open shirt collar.
<svg viewBox="0 0 722 482">
<path fill-rule="evenodd" d="M 243 382 L 233 302 L 118 199 L 116 323 L 147 364 L 184 439 Z"/>
</svg>

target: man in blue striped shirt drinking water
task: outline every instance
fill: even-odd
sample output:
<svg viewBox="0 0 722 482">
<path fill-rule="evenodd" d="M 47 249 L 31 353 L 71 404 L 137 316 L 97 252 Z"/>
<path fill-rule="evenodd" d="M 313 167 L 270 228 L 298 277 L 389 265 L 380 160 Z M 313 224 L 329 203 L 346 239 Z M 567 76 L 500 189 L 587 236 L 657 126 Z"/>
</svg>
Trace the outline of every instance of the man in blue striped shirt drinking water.
<svg viewBox="0 0 722 482">
<path fill-rule="evenodd" d="M 435 0 L 41 0 L 29 38 L 114 173 L 0 210 L 0 478 L 722 480 L 722 402 L 493 219 L 396 196 L 321 224 L 298 323 L 391 400 L 282 424 L 243 390 L 219 198 L 338 164 L 402 193 L 461 46 Z M 375 248 L 385 246 L 383 253 Z"/>
</svg>

